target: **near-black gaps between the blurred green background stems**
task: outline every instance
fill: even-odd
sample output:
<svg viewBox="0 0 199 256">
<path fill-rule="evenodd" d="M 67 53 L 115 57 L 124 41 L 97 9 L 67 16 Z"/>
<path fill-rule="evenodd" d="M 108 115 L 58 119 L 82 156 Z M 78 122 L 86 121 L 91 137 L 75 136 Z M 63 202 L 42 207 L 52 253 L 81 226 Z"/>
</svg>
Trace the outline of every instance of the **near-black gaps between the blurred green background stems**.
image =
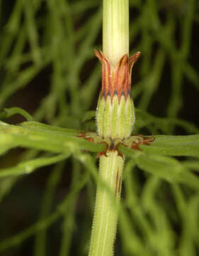
<svg viewBox="0 0 199 256">
<path fill-rule="evenodd" d="M 19 26 L 18 30 L 16 31 L 8 29 L 8 22 L 11 20 L 11 14 L 13 14 L 13 9 L 15 8 L 18 1 L 1 1 L 1 36 L 0 36 L 0 47 L 5 49 L 4 53 L 1 52 L 1 80 L 0 80 L 0 90 L 1 93 L 5 90 L 5 87 L 7 86 L 6 80 L 15 80 L 17 78 L 18 73 L 23 72 L 23 70 L 26 70 L 27 68 L 30 68 L 32 65 L 34 65 L 33 58 L 30 58 L 28 61 L 24 61 L 21 63 L 21 65 L 17 66 L 17 70 L 12 70 L 10 66 L 8 65 L 9 60 L 11 60 L 11 56 L 13 55 L 13 49 L 16 46 L 18 34 L 20 33 L 20 29 L 27 22 L 25 18 L 25 14 L 21 13 L 21 16 L 19 18 Z M 21 1 L 22 2 L 22 1 Z M 31 1 L 30 1 L 31 2 Z M 52 29 L 52 24 L 48 24 L 48 18 L 50 16 L 50 11 L 47 7 L 47 1 L 35 1 L 35 3 L 38 2 L 37 11 L 34 13 L 34 19 L 35 23 L 37 24 L 38 28 L 38 47 L 42 48 L 45 46 L 48 46 L 50 49 L 53 33 L 55 33 L 55 30 Z M 52 1 L 53 2 L 53 1 Z M 60 1 L 61 2 L 61 1 Z M 139 3 L 138 3 L 139 2 Z M 152 1 L 153 2 L 153 1 Z M 156 1 L 154 1 L 156 2 Z M 183 72 L 181 82 L 180 82 L 180 100 L 181 100 L 181 107 L 179 108 L 177 115 L 172 118 L 180 118 L 184 119 L 187 122 L 191 122 L 195 124 L 196 127 L 199 126 L 199 118 L 198 118 L 198 111 L 199 111 L 199 100 L 198 100 L 198 90 L 199 90 L 199 33 L 198 33 L 198 26 L 199 26 L 199 4 L 196 3 L 194 5 L 194 14 L 193 14 L 193 21 L 191 25 L 191 36 L 188 38 L 188 43 L 190 44 L 188 49 L 188 55 L 186 57 L 185 63 L 188 63 L 188 65 L 191 65 L 193 70 L 195 70 L 195 74 L 192 76 L 192 79 L 188 79 L 185 72 Z M 79 4 L 80 3 L 80 4 Z M 138 4 L 137 4 L 138 3 Z M 164 28 L 164 24 L 169 19 L 174 20 L 174 31 L 172 38 L 172 43 L 175 46 L 176 52 L 181 48 L 182 43 L 182 31 L 183 31 L 183 22 L 186 19 L 189 4 L 191 1 L 159 1 L 159 4 L 157 4 L 157 13 L 156 15 L 159 17 L 159 21 L 161 22 L 162 27 Z M 34 1 L 31 2 L 34 6 Z M 82 26 L 86 24 L 87 21 L 89 21 L 89 18 L 93 16 L 93 14 L 98 11 L 99 6 L 101 5 L 100 1 L 96 1 L 96 3 L 91 3 L 90 1 L 86 0 L 76 0 L 76 1 L 68 1 L 67 4 L 69 5 L 69 12 L 70 17 L 72 18 L 72 23 L 74 26 L 74 33 L 79 31 Z M 76 9 L 74 8 L 75 4 Z M 59 5 L 59 1 L 57 1 L 57 5 Z M 87 7 L 84 7 L 87 6 Z M 90 6 L 89 6 L 90 5 Z M 137 22 L 137 18 L 141 15 L 144 15 L 144 9 L 147 6 L 147 1 L 130 1 L 130 28 L 135 25 Z M 23 8 L 22 8 L 23 9 Z M 171 56 L 169 55 L 169 49 L 164 48 L 161 43 L 159 43 L 158 40 L 154 38 L 158 38 L 159 31 L 155 32 L 154 28 L 151 28 L 150 26 L 150 11 L 148 11 L 148 17 L 142 18 L 142 26 L 141 28 L 138 28 L 138 33 L 134 38 L 132 38 L 132 41 L 130 42 L 130 50 L 131 52 L 134 52 L 134 50 L 140 50 L 142 52 L 142 57 L 135 65 L 135 68 L 133 70 L 133 78 L 132 78 L 132 95 L 134 87 L 136 88 L 139 86 L 139 82 L 144 79 L 144 81 L 147 82 L 147 78 L 149 78 L 150 73 L 152 73 L 152 68 L 154 65 L 154 60 L 156 58 L 156 55 L 160 49 L 163 49 L 165 51 L 165 60 L 164 60 L 164 68 L 161 72 L 159 84 L 157 87 L 157 90 L 153 92 L 152 100 L 150 100 L 149 105 L 147 106 L 147 112 L 150 114 L 153 114 L 157 117 L 168 117 L 168 107 L 169 102 L 171 99 L 171 93 L 172 88 L 174 85 L 172 84 L 172 72 L 175 72 L 175 68 L 178 68 L 178 64 L 181 63 L 180 60 L 176 61 L 174 63 L 174 59 L 171 60 Z M 147 11 L 145 11 L 147 14 Z M 143 16 L 144 17 L 144 16 Z M 61 17 L 63 18 L 63 17 Z M 39 21 L 40 20 L 40 21 Z M 39 22 L 38 22 L 39 21 Z M 60 21 L 62 22 L 62 21 Z M 64 23 L 64 18 L 63 18 Z M 149 23 L 149 26 L 147 25 Z M 13 22 L 15 24 L 15 22 Z M 65 28 L 67 25 L 63 25 L 62 29 Z M 97 25 L 96 25 L 97 26 Z M 144 32 L 144 28 L 145 29 Z M 67 28 L 66 28 L 67 30 Z M 8 34 L 11 34 L 13 37 L 11 42 L 8 40 L 6 41 L 6 36 Z M 28 33 L 28 29 L 25 30 L 25 33 Z M 86 33 L 89 35 L 91 33 L 91 28 L 86 28 Z M 145 37 L 145 33 L 147 33 L 147 37 Z M 69 43 L 71 40 L 69 37 L 70 33 L 67 31 L 64 35 L 66 43 Z M 84 41 L 85 36 L 82 37 L 79 41 L 76 41 L 74 44 L 74 51 L 75 55 L 78 55 L 79 49 L 81 48 L 81 43 Z M 167 35 L 165 34 L 165 39 Z M 150 56 L 147 55 L 147 50 L 144 46 L 144 40 L 147 38 L 147 40 L 152 41 L 152 44 L 149 46 L 151 47 L 150 50 Z M 62 38 L 59 38 L 62 41 Z M 56 34 L 55 34 L 55 40 L 56 40 Z M 6 43 L 7 42 L 7 43 Z M 8 46 L 8 47 L 6 47 Z M 63 45 L 63 43 L 59 46 L 60 48 L 69 48 L 69 46 Z M 78 78 L 78 85 L 79 88 L 84 86 L 84 83 L 91 75 L 94 67 L 97 64 L 96 58 L 93 56 L 92 49 L 93 48 L 101 48 L 101 28 L 98 29 L 98 33 L 96 38 L 91 42 L 89 46 L 91 53 L 86 57 L 86 60 L 83 61 L 81 65 L 81 70 L 79 72 L 79 78 Z M 64 52 L 64 51 L 63 51 Z M 30 41 L 28 39 L 25 41 L 23 50 L 21 50 L 20 55 L 25 55 L 31 53 L 31 46 Z M 46 52 L 45 52 L 46 54 Z M 67 56 L 67 53 L 65 53 Z M 57 54 L 57 58 L 59 58 L 59 54 Z M 60 50 L 60 59 L 62 59 L 62 50 Z M 65 57 L 65 60 L 60 61 L 61 65 L 65 65 L 65 70 L 63 68 L 62 70 L 62 78 L 67 80 L 67 75 L 69 75 L 69 70 L 67 69 L 67 65 L 71 65 L 71 62 L 67 60 Z M 144 61 L 147 61 L 147 58 L 149 59 L 149 68 L 146 68 L 142 72 L 142 66 L 144 65 Z M 171 65 L 173 61 L 173 66 Z M 98 66 L 100 68 L 100 66 Z M 35 112 L 38 111 L 38 109 L 43 104 L 43 100 L 47 95 L 53 95 L 54 91 L 52 90 L 52 80 L 54 79 L 54 75 L 56 73 L 55 68 L 55 59 L 52 58 L 50 60 L 50 63 L 47 65 L 44 65 L 44 67 L 39 67 L 39 72 L 33 76 L 28 82 L 25 83 L 22 87 L 20 87 L 18 90 L 14 90 L 11 95 L 9 95 L 6 100 L 1 104 L 1 110 L 4 109 L 4 107 L 21 107 L 30 114 L 34 115 Z M 10 77 L 10 78 L 9 78 Z M 193 78 L 194 77 L 194 78 Z M 195 79 L 195 82 L 193 80 Z M 63 83 L 64 85 L 64 83 Z M 15 86 L 15 85 L 13 85 Z M 68 88 L 70 85 L 65 85 L 66 88 Z M 68 87 L 67 87 L 68 86 Z M 96 102 L 98 93 L 100 92 L 100 82 L 98 81 L 93 86 L 96 87 L 95 91 L 92 93 L 91 100 L 89 107 L 86 110 L 95 110 L 96 108 Z M 146 85 L 147 87 L 147 85 Z M 50 89 L 51 88 L 51 89 Z M 64 90 L 59 88 L 59 94 L 56 95 L 57 98 L 62 97 L 60 95 L 64 95 L 64 100 L 68 106 L 71 106 L 72 104 L 72 95 L 70 94 L 70 89 Z M 142 92 L 144 93 L 144 92 Z M 142 93 L 135 98 L 135 106 L 140 106 L 140 101 L 142 99 Z M 76 88 L 76 94 L 80 94 L 78 91 L 78 88 Z M 1 97 L 1 96 L 0 96 Z M 56 98 L 55 97 L 55 98 Z M 57 99 L 55 99 L 55 110 L 51 113 L 51 110 L 46 107 L 44 114 L 41 115 L 38 120 L 40 122 L 45 122 L 47 124 L 57 124 L 62 127 L 74 127 L 74 128 L 81 128 L 86 129 L 85 125 L 81 123 L 81 114 L 84 112 L 84 102 L 79 100 L 79 103 L 77 103 L 77 106 L 79 105 L 79 110 L 73 110 L 72 107 L 69 107 L 68 112 L 66 112 L 66 115 L 64 116 L 64 112 L 62 112 L 59 108 L 59 102 Z M 140 106 L 141 109 L 142 106 Z M 81 110 L 81 108 L 83 110 Z M 50 113 L 49 113 L 49 112 Z M 72 117 L 71 119 L 69 117 Z M 59 120 L 57 117 L 60 117 Z M 62 118 L 61 118 L 62 117 Z M 73 118 L 74 117 L 74 118 Z M 73 120 L 72 120 L 73 119 Z M 72 121 L 71 121 L 72 120 Z M 11 124 L 16 124 L 19 122 L 23 122 L 23 117 L 16 115 L 14 117 L 11 117 L 10 119 L 6 119 L 6 122 L 9 122 Z M 169 119 L 168 119 L 169 122 Z M 90 124 L 89 124 L 90 125 Z M 91 127 L 93 127 L 93 123 L 91 124 Z M 174 134 L 188 134 L 184 129 L 181 127 L 174 127 L 173 131 Z M 6 168 L 8 166 L 13 166 L 18 161 L 21 160 L 21 157 L 23 157 L 23 154 L 25 154 L 24 149 L 13 149 L 6 154 L 6 156 L 1 156 L 1 162 L 0 166 L 1 168 Z M 4 196 L 4 199 L 1 201 L 0 206 L 0 239 L 4 240 L 5 238 L 10 237 L 11 235 L 15 235 L 16 233 L 21 232 L 23 229 L 28 228 L 28 226 L 35 223 L 35 221 L 38 220 L 39 214 L 40 214 L 40 208 L 42 205 L 42 197 L 44 195 L 45 186 L 47 182 L 47 178 L 50 175 L 50 172 L 55 166 L 49 166 L 43 169 L 40 169 L 39 171 L 35 171 L 33 174 L 30 174 L 29 176 L 24 176 L 23 178 L 18 178 L 18 181 L 13 182 L 13 186 L 11 186 L 11 190 L 8 191 L 8 194 Z M 53 209 L 55 209 L 55 206 L 57 206 L 57 203 L 60 203 L 64 196 L 67 195 L 69 191 L 69 186 L 72 181 L 72 168 L 73 163 L 72 160 L 67 161 L 67 164 L 64 165 L 63 171 L 62 171 L 62 178 L 60 178 L 59 183 L 57 184 L 57 188 L 55 190 L 55 200 L 52 204 L 52 209 L 50 210 L 53 212 Z M 81 166 L 79 167 L 81 169 Z M 5 185 L 6 180 L 1 181 L 0 183 L 0 191 L 3 185 Z M 95 191 L 94 185 L 91 182 L 91 191 Z M 86 191 L 86 188 L 81 191 L 79 194 L 79 198 L 76 203 L 76 225 L 74 226 L 74 235 L 72 239 L 72 245 L 70 249 L 70 255 L 86 255 L 86 250 L 88 245 L 82 245 L 82 236 L 86 236 L 89 240 L 89 230 L 87 233 L 85 233 L 84 226 L 87 225 L 89 228 L 89 225 L 91 226 L 91 216 L 92 213 L 89 212 L 89 210 L 86 210 L 86 208 L 89 209 L 88 202 L 87 202 L 87 196 L 88 191 Z M 85 218 L 86 216 L 86 218 Z M 83 221 L 84 220 L 84 221 Z M 87 223 L 85 224 L 85 222 Z M 60 239 L 62 235 L 62 218 L 59 218 L 53 225 L 48 228 L 47 232 L 47 255 L 55 255 L 57 254 L 57 250 L 59 250 L 60 245 Z M 34 245 L 34 238 L 31 236 L 28 238 L 28 240 L 25 240 L 22 245 L 16 246 L 14 248 L 11 248 L 11 250 L 7 250 L 2 255 L 34 255 L 33 254 L 33 245 Z M 80 245 L 83 246 L 84 250 L 80 250 Z M 118 251 L 115 255 L 120 255 L 120 245 L 116 245 L 118 247 Z"/>
</svg>

